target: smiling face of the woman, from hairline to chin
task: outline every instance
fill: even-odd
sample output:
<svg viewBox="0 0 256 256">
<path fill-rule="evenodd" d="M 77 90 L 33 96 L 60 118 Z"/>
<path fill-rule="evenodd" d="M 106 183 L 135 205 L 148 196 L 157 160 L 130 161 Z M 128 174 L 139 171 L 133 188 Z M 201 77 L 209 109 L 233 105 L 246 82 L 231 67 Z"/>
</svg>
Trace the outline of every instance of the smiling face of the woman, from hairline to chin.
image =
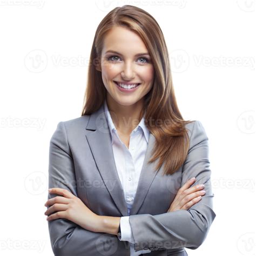
<svg viewBox="0 0 256 256">
<path fill-rule="evenodd" d="M 145 44 L 136 33 L 120 26 L 105 36 L 98 70 L 107 98 L 120 105 L 138 104 L 153 86 L 154 68 Z"/>
</svg>

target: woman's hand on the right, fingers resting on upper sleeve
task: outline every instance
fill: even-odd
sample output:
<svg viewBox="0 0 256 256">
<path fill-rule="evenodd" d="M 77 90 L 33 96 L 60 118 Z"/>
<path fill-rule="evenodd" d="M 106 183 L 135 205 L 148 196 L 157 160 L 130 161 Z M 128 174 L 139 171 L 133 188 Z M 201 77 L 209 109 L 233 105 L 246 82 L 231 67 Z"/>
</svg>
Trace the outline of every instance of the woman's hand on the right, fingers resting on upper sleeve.
<svg viewBox="0 0 256 256">
<path fill-rule="evenodd" d="M 196 185 L 190 187 L 196 179 L 188 180 L 182 187 L 179 188 L 178 193 L 172 204 L 169 207 L 167 212 L 174 212 L 178 210 L 188 210 L 192 205 L 198 203 L 201 200 L 201 197 L 204 196 L 205 191 L 201 191 L 204 188 L 203 186 Z M 202 193 L 203 192 L 203 193 Z"/>
</svg>

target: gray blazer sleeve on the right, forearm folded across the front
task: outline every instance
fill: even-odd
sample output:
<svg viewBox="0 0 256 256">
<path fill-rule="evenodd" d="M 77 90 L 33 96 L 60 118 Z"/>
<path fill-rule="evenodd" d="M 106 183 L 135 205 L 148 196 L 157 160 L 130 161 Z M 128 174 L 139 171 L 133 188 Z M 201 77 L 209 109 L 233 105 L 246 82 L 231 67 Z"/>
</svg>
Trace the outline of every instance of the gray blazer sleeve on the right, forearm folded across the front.
<svg viewBox="0 0 256 256">
<path fill-rule="evenodd" d="M 130 215 L 135 251 L 164 250 L 186 247 L 197 249 L 205 240 L 216 216 L 213 211 L 211 170 L 208 159 L 208 137 L 201 122 L 196 120 L 190 136 L 190 149 L 183 164 L 181 186 L 192 177 L 192 185 L 204 184 L 206 193 L 188 210 L 158 215 Z"/>
</svg>

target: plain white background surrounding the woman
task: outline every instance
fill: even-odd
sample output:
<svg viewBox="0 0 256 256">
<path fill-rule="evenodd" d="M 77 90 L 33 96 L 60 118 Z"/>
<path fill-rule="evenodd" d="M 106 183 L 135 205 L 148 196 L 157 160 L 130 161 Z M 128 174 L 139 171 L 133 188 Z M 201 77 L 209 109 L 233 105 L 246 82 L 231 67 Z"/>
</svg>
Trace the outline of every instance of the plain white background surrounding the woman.
<svg viewBox="0 0 256 256">
<path fill-rule="evenodd" d="M 156 18 L 184 119 L 209 138 L 214 211 L 188 255 L 255 255 L 255 1 L 0 4 L 1 255 L 53 255 L 44 203 L 50 138 L 80 116 L 95 31 L 116 6 Z M 254 31 L 254 32 L 253 32 Z M 254 47 L 253 47 L 254 46 Z"/>
</svg>

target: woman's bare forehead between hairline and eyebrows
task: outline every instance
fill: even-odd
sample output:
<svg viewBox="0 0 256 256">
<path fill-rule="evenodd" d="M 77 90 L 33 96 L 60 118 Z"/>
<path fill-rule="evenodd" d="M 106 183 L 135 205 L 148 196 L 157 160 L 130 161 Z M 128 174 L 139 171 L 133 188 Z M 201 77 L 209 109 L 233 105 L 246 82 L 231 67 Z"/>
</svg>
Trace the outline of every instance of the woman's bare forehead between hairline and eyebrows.
<svg viewBox="0 0 256 256">
<path fill-rule="evenodd" d="M 107 32 L 104 38 L 103 53 L 108 50 L 118 51 L 124 54 L 133 54 L 138 52 L 147 52 L 146 45 L 135 32 L 122 28 L 120 26 L 113 27 Z"/>
</svg>

